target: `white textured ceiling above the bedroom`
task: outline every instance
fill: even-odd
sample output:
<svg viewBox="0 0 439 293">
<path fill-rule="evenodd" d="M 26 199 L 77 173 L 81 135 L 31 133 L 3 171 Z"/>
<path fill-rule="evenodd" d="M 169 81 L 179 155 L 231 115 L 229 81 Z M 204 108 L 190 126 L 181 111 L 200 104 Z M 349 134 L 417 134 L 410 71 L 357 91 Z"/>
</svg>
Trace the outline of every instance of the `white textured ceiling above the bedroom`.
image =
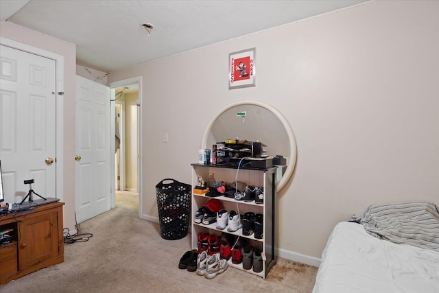
<svg viewBox="0 0 439 293">
<path fill-rule="evenodd" d="M 1 0 L 1 20 L 77 45 L 104 72 L 252 34 L 365 1 Z M 150 34 L 141 23 L 152 23 Z"/>
</svg>

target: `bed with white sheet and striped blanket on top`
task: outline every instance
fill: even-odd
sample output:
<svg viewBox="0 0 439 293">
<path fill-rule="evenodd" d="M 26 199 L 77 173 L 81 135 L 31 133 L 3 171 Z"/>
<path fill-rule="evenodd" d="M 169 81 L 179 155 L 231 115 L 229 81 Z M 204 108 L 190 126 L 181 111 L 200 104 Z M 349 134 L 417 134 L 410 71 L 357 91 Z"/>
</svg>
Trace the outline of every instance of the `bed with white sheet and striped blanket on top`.
<svg viewBox="0 0 439 293">
<path fill-rule="evenodd" d="M 374 205 L 361 218 L 336 224 L 313 293 L 343 292 L 438 293 L 436 205 Z"/>
</svg>

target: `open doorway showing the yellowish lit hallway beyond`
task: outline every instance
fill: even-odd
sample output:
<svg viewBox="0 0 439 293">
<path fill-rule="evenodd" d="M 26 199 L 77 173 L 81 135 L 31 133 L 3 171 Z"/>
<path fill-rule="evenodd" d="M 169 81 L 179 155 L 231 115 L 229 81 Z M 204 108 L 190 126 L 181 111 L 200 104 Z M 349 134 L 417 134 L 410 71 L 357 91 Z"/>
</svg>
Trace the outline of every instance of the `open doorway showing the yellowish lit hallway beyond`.
<svg viewBox="0 0 439 293">
<path fill-rule="evenodd" d="M 135 209 L 141 215 L 141 141 L 139 80 L 122 80 L 111 83 L 112 123 L 115 134 L 114 207 Z M 114 114 L 113 114 L 114 113 Z M 128 205 L 127 205 L 128 204 Z M 137 205 L 137 207 L 136 207 Z"/>
</svg>

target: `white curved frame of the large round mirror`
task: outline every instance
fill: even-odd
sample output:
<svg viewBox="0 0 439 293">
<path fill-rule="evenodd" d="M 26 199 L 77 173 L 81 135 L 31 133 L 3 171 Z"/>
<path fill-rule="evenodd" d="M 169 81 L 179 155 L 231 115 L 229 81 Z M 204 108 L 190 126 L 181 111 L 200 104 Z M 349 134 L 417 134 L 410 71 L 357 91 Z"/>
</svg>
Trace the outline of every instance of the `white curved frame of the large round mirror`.
<svg viewBox="0 0 439 293">
<path fill-rule="evenodd" d="M 283 174 L 281 180 L 276 185 L 276 191 L 280 191 L 286 184 L 289 178 L 292 176 L 294 172 L 294 167 L 296 166 L 296 158 L 297 158 L 297 145 L 296 145 L 296 137 L 294 137 L 294 132 L 289 125 L 287 119 L 273 106 L 266 104 L 261 101 L 257 101 L 254 99 L 243 99 L 237 102 L 233 102 L 232 104 L 226 105 L 224 108 L 219 110 L 209 121 L 209 124 L 206 126 L 206 130 L 204 130 L 204 134 L 201 141 L 201 148 L 205 149 L 207 145 L 207 139 L 209 137 L 209 133 L 211 132 L 211 128 L 215 123 L 216 119 L 221 116 L 224 112 L 229 110 L 230 108 L 242 105 L 255 105 L 270 110 L 278 119 L 281 121 L 283 127 L 285 128 L 285 132 L 287 132 L 288 142 L 289 142 L 289 162 L 287 168 L 285 169 L 285 173 Z"/>
</svg>

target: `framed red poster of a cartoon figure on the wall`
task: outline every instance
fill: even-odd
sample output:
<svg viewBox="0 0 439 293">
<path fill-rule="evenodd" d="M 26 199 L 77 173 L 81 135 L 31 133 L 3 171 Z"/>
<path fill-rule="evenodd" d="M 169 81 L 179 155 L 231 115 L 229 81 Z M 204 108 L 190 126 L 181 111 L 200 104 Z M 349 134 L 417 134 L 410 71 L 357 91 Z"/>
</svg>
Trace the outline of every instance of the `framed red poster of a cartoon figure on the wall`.
<svg viewBox="0 0 439 293">
<path fill-rule="evenodd" d="M 256 86 L 256 48 L 228 54 L 228 89 Z"/>
</svg>

